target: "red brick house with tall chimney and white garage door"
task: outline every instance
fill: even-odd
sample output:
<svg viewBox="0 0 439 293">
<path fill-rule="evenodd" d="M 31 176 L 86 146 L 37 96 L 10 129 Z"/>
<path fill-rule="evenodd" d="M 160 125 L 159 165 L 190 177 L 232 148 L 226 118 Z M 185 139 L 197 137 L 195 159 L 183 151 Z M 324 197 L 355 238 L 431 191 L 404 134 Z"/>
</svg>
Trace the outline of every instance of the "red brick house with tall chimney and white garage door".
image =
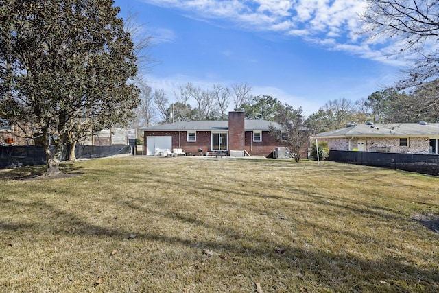
<svg viewBox="0 0 439 293">
<path fill-rule="evenodd" d="M 226 121 L 178 121 L 141 128 L 144 133 L 144 154 L 156 155 L 159 150 L 184 149 L 187 154 L 224 152 L 228 155 L 270 156 L 282 146 L 270 135 L 274 122 L 244 119 L 244 111 L 228 113 Z M 200 151 L 199 151 L 200 150 Z"/>
</svg>

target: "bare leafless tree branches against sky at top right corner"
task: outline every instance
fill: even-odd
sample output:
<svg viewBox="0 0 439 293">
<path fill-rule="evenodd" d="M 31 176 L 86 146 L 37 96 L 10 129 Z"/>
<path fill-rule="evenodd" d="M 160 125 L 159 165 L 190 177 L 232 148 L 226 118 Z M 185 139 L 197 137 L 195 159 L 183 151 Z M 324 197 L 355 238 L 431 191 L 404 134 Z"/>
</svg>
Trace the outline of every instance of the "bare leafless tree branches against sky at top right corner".
<svg viewBox="0 0 439 293">
<path fill-rule="evenodd" d="M 367 0 L 368 8 L 361 16 L 366 23 L 364 33 L 370 39 L 396 42 L 394 54 L 414 61 L 407 79 L 399 86 L 407 87 L 439 78 L 439 5 L 436 0 Z"/>
</svg>

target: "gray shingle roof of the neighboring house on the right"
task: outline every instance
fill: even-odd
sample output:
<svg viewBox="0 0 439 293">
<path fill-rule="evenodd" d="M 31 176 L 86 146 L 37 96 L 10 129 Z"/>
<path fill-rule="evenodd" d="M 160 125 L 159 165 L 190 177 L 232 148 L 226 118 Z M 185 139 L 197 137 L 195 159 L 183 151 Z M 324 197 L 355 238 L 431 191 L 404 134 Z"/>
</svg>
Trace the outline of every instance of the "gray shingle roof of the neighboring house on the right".
<svg viewBox="0 0 439 293">
<path fill-rule="evenodd" d="M 439 135 L 439 124 L 357 124 L 316 134 L 316 137 L 423 137 Z"/>
</svg>

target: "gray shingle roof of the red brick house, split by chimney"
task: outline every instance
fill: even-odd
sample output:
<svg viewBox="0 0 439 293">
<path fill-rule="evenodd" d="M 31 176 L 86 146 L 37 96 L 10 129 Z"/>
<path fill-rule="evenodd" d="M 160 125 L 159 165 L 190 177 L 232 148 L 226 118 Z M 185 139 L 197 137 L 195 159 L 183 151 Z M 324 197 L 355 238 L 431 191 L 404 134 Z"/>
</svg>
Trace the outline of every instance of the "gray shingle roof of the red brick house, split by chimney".
<svg viewBox="0 0 439 293">
<path fill-rule="evenodd" d="M 246 131 L 251 130 L 270 130 L 270 124 L 274 125 L 277 129 L 283 129 L 279 124 L 266 120 L 244 120 L 244 128 Z M 187 130 L 200 130 L 200 131 L 215 131 L 215 130 L 228 130 L 228 121 L 215 121 L 215 120 L 202 120 L 202 121 L 177 121 L 170 124 L 161 124 L 156 126 L 150 126 L 141 128 L 141 131 L 155 130 L 155 131 L 187 131 Z"/>
</svg>

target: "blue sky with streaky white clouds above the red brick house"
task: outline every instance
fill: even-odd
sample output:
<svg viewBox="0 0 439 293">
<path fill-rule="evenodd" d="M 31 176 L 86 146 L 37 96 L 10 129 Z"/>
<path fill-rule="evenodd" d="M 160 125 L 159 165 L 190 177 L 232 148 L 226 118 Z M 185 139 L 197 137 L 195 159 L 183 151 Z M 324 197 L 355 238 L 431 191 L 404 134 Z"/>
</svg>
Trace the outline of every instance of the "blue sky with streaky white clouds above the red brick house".
<svg viewBox="0 0 439 293">
<path fill-rule="evenodd" d="M 170 102 L 178 86 L 202 89 L 246 82 L 252 95 L 271 95 L 315 113 L 329 100 L 366 98 L 391 86 L 403 63 L 388 40 L 366 40 L 361 0 L 115 0 L 124 19 L 137 13 L 152 34 L 146 73 Z M 393 45 L 393 46 L 392 46 Z"/>
</svg>

